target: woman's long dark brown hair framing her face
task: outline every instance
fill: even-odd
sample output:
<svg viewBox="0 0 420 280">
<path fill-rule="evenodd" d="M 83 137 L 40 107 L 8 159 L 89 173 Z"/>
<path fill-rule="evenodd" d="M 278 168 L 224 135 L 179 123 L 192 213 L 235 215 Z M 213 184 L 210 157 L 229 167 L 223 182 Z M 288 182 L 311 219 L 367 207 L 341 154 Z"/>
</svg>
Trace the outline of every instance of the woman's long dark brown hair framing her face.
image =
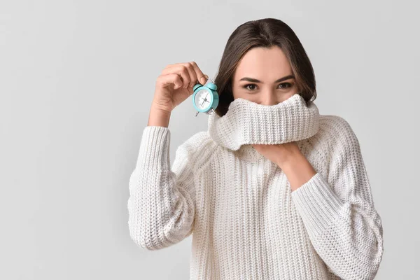
<svg viewBox="0 0 420 280">
<path fill-rule="evenodd" d="M 218 87 L 218 116 L 228 112 L 230 102 L 234 100 L 232 78 L 239 61 L 251 48 L 271 48 L 278 46 L 288 58 L 295 76 L 297 89 L 307 103 L 316 99 L 314 69 L 302 43 L 295 32 L 285 22 L 275 18 L 251 20 L 239 25 L 230 35 L 214 79 Z M 313 99 L 312 99 L 313 98 Z"/>
</svg>

